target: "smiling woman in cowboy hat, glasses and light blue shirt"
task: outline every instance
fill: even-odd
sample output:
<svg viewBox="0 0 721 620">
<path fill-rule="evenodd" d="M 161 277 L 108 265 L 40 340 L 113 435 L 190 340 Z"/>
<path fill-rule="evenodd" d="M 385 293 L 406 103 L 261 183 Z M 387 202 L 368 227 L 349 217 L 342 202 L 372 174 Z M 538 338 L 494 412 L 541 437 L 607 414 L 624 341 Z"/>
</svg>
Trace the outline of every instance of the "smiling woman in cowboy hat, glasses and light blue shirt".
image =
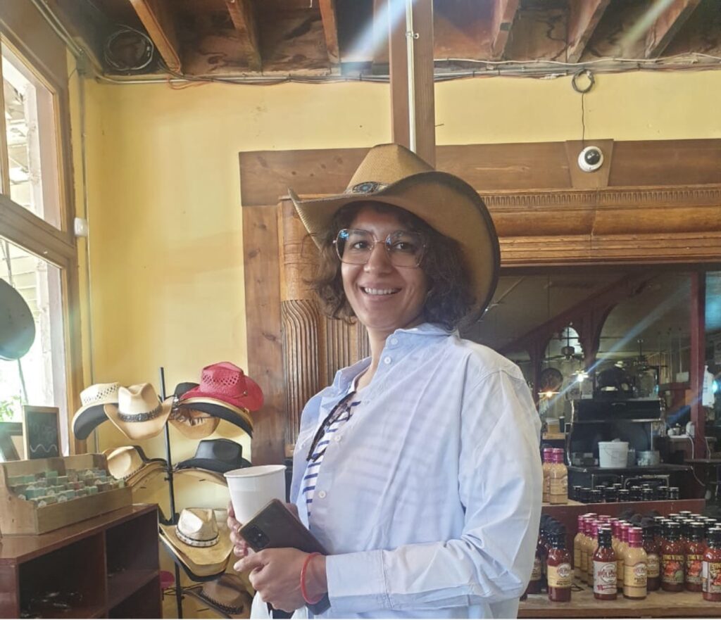
<svg viewBox="0 0 721 620">
<path fill-rule="evenodd" d="M 301 415 L 291 500 L 329 555 L 247 554 L 231 518 L 236 570 L 275 608 L 327 595 L 322 617 L 515 616 L 541 513 L 540 423 L 518 368 L 456 331 L 497 281 L 485 205 L 394 144 L 371 149 L 344 194 L 291 198 L 321 251 L 319 300 L 366 327 L 371 358 Z"/>
</svg>

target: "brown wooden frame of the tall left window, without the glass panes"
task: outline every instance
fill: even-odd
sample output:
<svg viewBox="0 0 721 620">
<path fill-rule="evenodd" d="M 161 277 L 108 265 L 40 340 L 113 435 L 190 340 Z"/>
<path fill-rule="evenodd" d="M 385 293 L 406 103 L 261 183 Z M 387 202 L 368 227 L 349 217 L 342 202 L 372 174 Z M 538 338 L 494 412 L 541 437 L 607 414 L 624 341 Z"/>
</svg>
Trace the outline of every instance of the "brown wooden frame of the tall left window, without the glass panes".
<svg viewBox="0 0 721 620">
<path fill-rule="evenodd" d="M 25 4 L 25 3 L 22 3 Z M 27 44 L 25 43 L 27 42 Z M 58 200 L 61 228 L 14 203 L 9 196 L 8 175 L 0 182 L 0 236 L 35 254 L 61 270 L 63 340 L 65 341 L 65 384 L 68 411 L 68 446 L 71 454 L 86 451 L 86 442 L 77 440 L 71 430 L 72 414 L 79 406 L 84 383 L 79 293 L 79 248 L 73 233 L 73 197 L 69 79 L 67 50 L 55 32 L 35 9 L 27 5 L 0 9 L 0 45 L 21 59 L 32 74 L 53 94 L 58 169 Z M 58 60 L 60 55 L 61 60 Z M 0 78 L 2 76 L 0 65 Z M 0 104 L 4 97 L 0 89 Z M 8 156 L 4 114 L 0 115 L 2 169 L 7 171 Z"/>
</svg>

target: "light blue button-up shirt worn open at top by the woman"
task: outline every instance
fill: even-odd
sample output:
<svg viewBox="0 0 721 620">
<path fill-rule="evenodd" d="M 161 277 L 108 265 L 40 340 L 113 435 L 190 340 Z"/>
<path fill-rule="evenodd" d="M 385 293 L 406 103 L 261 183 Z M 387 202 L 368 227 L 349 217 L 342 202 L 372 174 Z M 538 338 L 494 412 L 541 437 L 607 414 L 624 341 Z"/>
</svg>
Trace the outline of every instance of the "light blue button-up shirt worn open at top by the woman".
<svg viewBox="0 0 721 620">
<path fill-rule="evenodd" d="M 330 554 L 322 617 L 515 617 L 542 486 L 521 371 L 433 324 L 394 332 L 381 360 L 326 448 L 310 516 L 299 492 L 309 445 L 370 360 L 338 371 L 301 415 L 291 501 Z"/>
</svg>

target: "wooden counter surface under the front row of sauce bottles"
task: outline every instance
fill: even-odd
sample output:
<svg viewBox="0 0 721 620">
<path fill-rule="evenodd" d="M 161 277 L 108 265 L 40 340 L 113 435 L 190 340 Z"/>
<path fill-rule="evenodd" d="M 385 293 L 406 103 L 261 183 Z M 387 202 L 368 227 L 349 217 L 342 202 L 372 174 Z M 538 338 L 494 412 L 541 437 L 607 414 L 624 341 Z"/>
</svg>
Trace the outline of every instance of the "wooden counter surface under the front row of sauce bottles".
<svg viewBox="0 0 721 620">
<path fill-rule="evenodd" d="M 597 601 L 585 584 L 574 585 L 570 603 L 552 603 L 546 594 L 529 594 L 518 607 L 519 618 L 714 618 L 721 603 L 704 601 L 700 592 L 648 593 L 643 601 Z"/>
</svg>

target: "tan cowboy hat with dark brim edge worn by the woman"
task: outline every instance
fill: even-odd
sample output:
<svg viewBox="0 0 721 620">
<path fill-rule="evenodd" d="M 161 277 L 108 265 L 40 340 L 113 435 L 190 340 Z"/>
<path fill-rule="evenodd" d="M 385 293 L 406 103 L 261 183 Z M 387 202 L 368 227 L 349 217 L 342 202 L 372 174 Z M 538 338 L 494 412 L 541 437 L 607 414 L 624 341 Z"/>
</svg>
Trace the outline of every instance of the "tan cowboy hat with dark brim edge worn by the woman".
<svg viewBox="0 0 721 620">
<path fill-rule="evenodd" d="M 373 146 L 340 195 L 301 200 L 293 190 L 288 193 L 316 244 L 335 212 L 350 203 L 386 203 L 410 211 L 458 242 L 475 296 L 466 320 L 478 319 L 490 303 L 498 280 L 500 247 L 483 200 L 464 180 L 436 171 L 404 146 Z"/>
</svg>

